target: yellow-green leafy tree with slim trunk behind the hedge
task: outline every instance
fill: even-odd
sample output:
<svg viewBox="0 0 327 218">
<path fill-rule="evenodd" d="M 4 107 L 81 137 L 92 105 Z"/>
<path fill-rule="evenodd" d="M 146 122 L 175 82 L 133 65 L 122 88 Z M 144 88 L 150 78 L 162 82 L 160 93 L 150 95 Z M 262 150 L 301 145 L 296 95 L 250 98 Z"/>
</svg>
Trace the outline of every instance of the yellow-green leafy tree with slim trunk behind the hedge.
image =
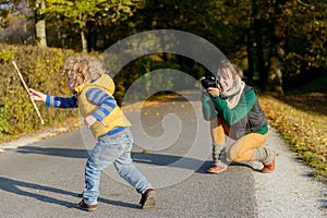
<svg viewBox="0 0 327 218">
<path fill-rule="evenodd" d="M 88 23 L 93 25 L 116 23 L 133 14 L 142 0 L 47 0 L 49 19 L 61 19 L 81 34 L 82 50 L 87 52 Z"/>
</svg>

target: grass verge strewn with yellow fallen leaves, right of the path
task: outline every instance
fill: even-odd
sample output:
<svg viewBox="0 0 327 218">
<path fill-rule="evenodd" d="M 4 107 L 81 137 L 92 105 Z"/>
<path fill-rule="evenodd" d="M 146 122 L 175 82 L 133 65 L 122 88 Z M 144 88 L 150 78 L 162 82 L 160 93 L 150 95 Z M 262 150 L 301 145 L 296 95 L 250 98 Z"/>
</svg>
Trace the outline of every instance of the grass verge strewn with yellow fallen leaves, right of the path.
<svg viewBox="0 0 327 218">
<path fill-rule="evenodd" d="M 301 161 L 314 168 L 312 175 L 327 183 L 326 112 L 308 110 L 307 107 L 312 106 L 305 100 L 302 101 L 302 106 L 294 106 L 294 98 L 296 96 L 277 99 L 263 95 L 259 96 L 259 102 L 269 124 L 279 131 L 290 148 L 298 153 Z"/>
</svg>

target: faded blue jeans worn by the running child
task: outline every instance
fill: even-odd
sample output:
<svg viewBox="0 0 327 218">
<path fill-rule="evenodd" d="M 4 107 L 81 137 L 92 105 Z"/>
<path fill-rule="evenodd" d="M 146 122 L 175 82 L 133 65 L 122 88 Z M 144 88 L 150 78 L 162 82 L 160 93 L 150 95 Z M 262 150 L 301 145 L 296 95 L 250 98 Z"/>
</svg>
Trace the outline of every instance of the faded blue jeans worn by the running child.
<svg viewBox="0 0 327 218">
<path fill-rule="evenodd" d="M 132 162 L 132 146 L 133 136 L 128 128 L 117 135 L 98 137 L 85 166 L 85 190 L 83 192 L 85 204 L 97 204 L 101 170 L 112 162 L 120 177 L 134 186 L 140 194 L 152 187 L 152 184 Z"/>
</svg>

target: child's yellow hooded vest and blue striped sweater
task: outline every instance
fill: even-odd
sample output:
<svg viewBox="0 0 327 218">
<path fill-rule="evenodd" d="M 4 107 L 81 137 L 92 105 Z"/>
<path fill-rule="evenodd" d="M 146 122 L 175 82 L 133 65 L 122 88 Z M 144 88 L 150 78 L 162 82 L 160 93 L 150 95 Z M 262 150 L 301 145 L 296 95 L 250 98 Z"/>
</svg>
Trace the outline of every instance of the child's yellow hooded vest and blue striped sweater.
<svg viewBox="0 0 327 218">
<path fill-rule="evenodd" d="M 113 135 L 131 125 L 112 97 L 114 84 L 109 75 L 105 74 L 93 83 L 83 84 L 76 90 L 75 95 L 68 98 L 47 95 L 46 106 L 56 108 L 80 107 L 83 117 L 93 116 L 97 119 L 98 122 L 90 126 L 95 137 L 105 134 Z"/>
</svg>

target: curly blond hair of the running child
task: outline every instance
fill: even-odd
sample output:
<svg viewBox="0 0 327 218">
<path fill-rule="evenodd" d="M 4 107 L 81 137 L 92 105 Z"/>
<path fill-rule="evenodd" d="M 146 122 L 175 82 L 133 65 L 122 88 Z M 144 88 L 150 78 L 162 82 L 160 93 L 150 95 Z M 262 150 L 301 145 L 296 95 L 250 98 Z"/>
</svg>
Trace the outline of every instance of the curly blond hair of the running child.
<svg viewBox="0 0 327 218">
<path fill-rule="evenodd" d="M 65 61 L 63 73 L 75 82 L 83 81 L 85 83 L 97 80 L 106 73 L 106 70 L 95 57 L 75 56 Z"/>
</svg>

